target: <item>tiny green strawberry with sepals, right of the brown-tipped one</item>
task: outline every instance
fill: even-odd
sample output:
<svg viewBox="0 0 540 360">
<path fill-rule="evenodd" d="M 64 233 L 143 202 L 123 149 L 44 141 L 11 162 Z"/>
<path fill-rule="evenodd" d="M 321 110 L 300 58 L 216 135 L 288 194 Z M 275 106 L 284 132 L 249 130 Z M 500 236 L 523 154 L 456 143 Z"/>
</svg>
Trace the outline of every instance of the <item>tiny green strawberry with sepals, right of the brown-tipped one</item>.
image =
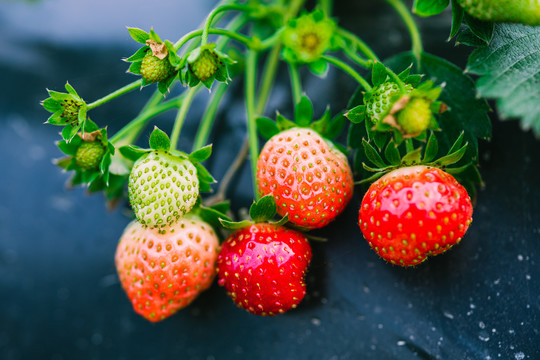
<svg viewBox="0 0 540 360">
<path fill-rule="evenodd" d="M 230 80 L 227 65 L 234 61 L 226 54 L 215 49 L 216 44 L 206 44 L 191 51 L 187 56 L 187 67 L 182 79 L 189 87 L 203 83 L 208 89 L 214 80 L 228 82 Z"/>
</svg>

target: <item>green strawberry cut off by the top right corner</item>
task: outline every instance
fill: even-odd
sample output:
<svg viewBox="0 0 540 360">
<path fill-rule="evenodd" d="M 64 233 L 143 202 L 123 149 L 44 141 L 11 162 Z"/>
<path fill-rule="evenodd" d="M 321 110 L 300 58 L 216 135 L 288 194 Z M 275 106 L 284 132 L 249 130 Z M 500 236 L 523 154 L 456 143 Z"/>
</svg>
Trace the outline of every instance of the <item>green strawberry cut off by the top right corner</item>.
<svg viewBox="0 0 540 360">
<path fill-rule="evenodd" d="M 540 25 L 538 0 L 458 0 L 458 3 L 469 15 L 481 20 Z"/>
</svg>

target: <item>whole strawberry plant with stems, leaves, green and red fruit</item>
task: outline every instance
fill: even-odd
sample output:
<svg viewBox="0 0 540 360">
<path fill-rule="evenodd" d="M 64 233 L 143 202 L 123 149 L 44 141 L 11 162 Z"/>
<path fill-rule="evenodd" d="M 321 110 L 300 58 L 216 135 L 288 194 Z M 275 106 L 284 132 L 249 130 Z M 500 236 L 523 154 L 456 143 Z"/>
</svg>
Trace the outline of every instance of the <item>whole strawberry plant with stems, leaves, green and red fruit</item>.
<svg viewBox="0 0 540 360">
<path fill-rule="evenodd" d="M 540 60 L 531 46 L 539 42 L 539 7 L 507 0 L 381 5 L 403 20 L 410 51 L 381 59 L 362 34 L 332 17 L 330 0 L 224 0 L 201 28 L 174 42 L 154 29 L 128 27 L 140 48 L 125 61 L 138 78 L 112 93 L 89 102 L 69 83 L 65 93 L 48 90 L 42 105 L 52 113 L 47 123 L 61 127 L 58 147 L 67 156 L 57 164 L 73 173 L 70 184 L 103 192 L 112 204 L 129 200 L 133 220 L 119 234 L 116 266 L 136 312 L 163 320 L 216 274 L 250 313 L 294 309 L 309 291 L 310 241 L 347 207 L 359 209 L 358 239 L 390 264 L 423 266 L 428 256 L 466 241 L 484 185 L 478 144 L 491 136 L 487 100 L 495 100 L 501 118 L 519 118 L 540 136 Z M 475 48 L 466 69 L 424 50 L 415 16 L 445 10 L 452 14 L 449 38 Z M 288 72 L 290 101 L 268 109 L 280 70 Z M 316 114 L 303 83 L 311 76 L 324 82 L 329 71 L 343 72 L 358 89 L 346 108 Z M 243 86 L 247 140 L 216 181 L 202 163 L 214 151 L 217 108 L 233 84 Z M 155 92 L 114 134 L 107 119 L 90 119 L 92 110 L 142 87 Z M 192 102 L 205 88 L 207 111 L 192 118 Z M 169 133 L 148 130 L 172 110 Z M 191 149 L 180 141 L 187 122 L 198 124 Z M 149 148 L 138 146 L 145 135 Z M 239 204 L 226 196 L 248 157 L 251 220 L 231 212 L 229 204 Z"/>
</svg>

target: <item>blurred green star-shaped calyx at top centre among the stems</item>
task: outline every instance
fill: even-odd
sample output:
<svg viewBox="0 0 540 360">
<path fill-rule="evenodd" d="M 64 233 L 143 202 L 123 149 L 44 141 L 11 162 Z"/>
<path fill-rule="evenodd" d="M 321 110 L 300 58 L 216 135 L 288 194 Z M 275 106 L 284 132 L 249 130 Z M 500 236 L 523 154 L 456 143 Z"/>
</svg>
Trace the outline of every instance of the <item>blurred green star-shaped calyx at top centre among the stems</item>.
<svg viewBox="0 0 540 360">
<path fill-rule="evenodd" d="M 291 63 L 312 63 L 335 48 L 336 23 L 317 9 L 290 20 L 281 36 L 283 58 Z"/>
</svg>

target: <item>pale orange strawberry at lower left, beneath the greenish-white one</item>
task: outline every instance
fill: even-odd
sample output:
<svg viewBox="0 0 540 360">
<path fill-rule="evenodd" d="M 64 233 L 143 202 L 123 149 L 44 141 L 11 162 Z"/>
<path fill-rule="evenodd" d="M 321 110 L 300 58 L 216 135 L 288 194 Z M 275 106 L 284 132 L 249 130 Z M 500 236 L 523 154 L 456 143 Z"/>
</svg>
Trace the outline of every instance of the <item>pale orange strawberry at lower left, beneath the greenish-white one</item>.
<svg viewBox="0 0 540 360">
<path fill-rule="evenodd" d="M 159 230 L 133 221 L 116 249 L 116 270 L 135 311 L 156 322 L 212 284 L 218 251 L 214 230 L 194 215 Z"/>
</svg>

